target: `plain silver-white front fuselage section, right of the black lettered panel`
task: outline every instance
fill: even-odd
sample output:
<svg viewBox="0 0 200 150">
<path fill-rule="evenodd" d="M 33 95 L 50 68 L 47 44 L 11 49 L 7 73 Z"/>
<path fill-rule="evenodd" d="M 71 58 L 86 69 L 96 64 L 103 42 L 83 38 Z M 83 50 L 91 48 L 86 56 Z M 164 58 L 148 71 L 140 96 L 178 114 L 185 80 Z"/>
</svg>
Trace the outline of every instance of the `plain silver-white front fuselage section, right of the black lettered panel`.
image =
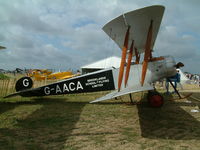
<svg viewBox="0 0 200 150">
<path fill-rule="evenodd" d="M 165 56 L 164 60 L 153 61 L 148 63 L 147 73 L 144 81 L 145 84 L 151 84 L 155 81 L 159 81 L 163 78 L 167 78 L 176 74 L 175 61 L 172 56 Z M 121 89 L 125 88 L 124 80 L 125 80 L 125 71 L 122 80 Z M 113 78 L 115 83 L 115 89 L 118 88 L 118 74 L 119 68 L 113 69 Z M 126 88 L 131 87 L 141 87 L 141 75 L 142 75 L 142 64 L 131 65 L 129 78 L 127 82 Z"/>
</svg>

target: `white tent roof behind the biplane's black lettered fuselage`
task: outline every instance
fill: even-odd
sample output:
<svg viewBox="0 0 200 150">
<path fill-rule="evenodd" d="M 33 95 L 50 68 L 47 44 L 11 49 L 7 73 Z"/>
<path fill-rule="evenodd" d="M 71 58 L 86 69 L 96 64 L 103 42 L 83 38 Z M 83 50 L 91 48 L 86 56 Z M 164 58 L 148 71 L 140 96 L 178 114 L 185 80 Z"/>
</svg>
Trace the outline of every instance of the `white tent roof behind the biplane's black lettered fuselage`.
<svg viewBox="0 0 200 150">
<path fill-rule="evenodd" d="M 112 56 L 103 60 L 99 60 L 97 62 L 85 65 L 81 67 L 82 74 L 94 72 L 101 69 L 107 68 L 119 68 L 121 59 L 116 56 Z"/>
</svg>

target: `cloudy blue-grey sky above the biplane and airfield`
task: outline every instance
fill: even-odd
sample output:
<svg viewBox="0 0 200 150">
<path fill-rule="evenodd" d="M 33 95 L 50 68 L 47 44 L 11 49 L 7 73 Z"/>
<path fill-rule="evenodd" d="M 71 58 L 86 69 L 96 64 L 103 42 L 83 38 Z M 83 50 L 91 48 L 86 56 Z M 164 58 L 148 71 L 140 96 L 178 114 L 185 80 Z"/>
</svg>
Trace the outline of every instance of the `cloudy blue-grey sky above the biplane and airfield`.
<svg viewBox="0 0 200 150">
<path fill-rule="evenodd" d="M 164 5 L 154 56 L 172 55 L 200 73 L 199 0 L 0 0 L 0 69 L 77 70 L 121 57 L 102 27 L 119 15 Z"/>
</svg>

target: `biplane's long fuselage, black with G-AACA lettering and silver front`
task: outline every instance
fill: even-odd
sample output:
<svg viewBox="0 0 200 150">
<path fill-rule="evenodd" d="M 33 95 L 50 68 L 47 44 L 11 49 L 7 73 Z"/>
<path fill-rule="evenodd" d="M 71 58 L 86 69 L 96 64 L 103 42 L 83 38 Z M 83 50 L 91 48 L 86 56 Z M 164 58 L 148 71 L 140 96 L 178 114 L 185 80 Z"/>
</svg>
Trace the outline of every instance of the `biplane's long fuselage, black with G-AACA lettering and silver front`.
<svg viewBox="0 0 200 150">
<path fill-rule="evenodd" d="M 126 67 L 125 67 L 126 69 Z M 124 86 L 122 80 L 121 90 L 141 87 L 141 71 L 142 64 L 131 65 L 127 86 Z M 62 80 L 53 84 L 45 85 L 35 89 L 27 89 L 10 96 L 21 95 L 25 97 L 31 96 L 49 96 L 86 92 L 98 92 L 117 90 L 119 69 L 105 69 L 74 78 Z M 172 56 L 165 56 L 163 60 L 148 63 L 144 87 L 160 79 L 170 77 L 176 74 L 175 61 Z M 27 84 L 27 82 L 26 82 Z M 26 86 L 26 85 L 24 85 Z M 8 97 L 10 97 L 8 96 Z"/>
</svg>

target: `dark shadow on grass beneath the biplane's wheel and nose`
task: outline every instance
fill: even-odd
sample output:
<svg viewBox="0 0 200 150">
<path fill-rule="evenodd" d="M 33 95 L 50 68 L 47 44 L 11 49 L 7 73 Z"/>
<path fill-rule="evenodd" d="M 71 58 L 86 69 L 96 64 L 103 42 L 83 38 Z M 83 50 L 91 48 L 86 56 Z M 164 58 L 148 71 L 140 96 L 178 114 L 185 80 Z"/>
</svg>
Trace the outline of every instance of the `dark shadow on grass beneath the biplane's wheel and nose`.
<svg viewBox="0 0 200 150">
<path fill-rule="evenodd" d="M 169 99 L 172 97 L 169 96 Z M 194 102 L 190 98 L 188 100 Z M 195 102 L 195 105 L 197 103 L 200 104 Z M 181 106 L 191 106 L 191 104 L 168 101 L 165 107 L 159 109 L 138 105 L 141 136 L 150 139 L 199 140 L 200 122 Z"/>
</svg>

